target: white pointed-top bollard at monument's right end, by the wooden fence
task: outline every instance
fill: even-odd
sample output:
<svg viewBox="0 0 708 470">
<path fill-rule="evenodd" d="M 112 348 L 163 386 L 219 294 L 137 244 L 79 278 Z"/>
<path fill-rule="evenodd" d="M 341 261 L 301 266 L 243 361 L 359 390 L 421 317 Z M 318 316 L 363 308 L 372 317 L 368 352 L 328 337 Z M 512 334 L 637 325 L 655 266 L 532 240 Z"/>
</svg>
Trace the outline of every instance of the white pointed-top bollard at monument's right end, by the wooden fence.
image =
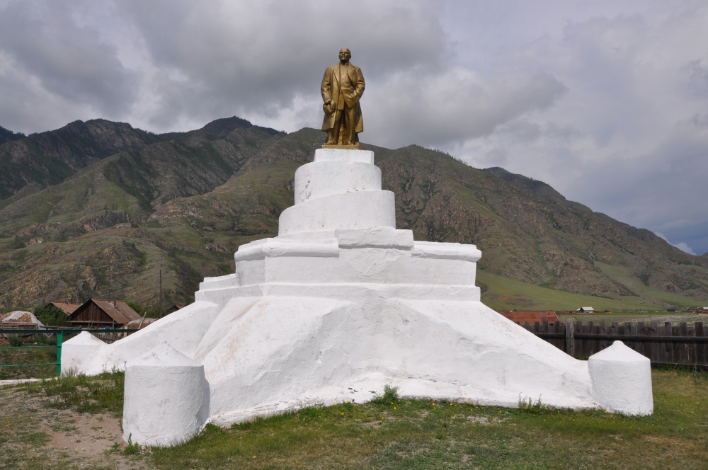
<svg viewBox="0 0 708 470">
<path fill-rule="evenodd" d="M 626 415 L 653 412 L 649 357 L 615 341 L 610 348 L 591 355 L 588 365 L 593 394 L 605 410 Z"/>
</svg>

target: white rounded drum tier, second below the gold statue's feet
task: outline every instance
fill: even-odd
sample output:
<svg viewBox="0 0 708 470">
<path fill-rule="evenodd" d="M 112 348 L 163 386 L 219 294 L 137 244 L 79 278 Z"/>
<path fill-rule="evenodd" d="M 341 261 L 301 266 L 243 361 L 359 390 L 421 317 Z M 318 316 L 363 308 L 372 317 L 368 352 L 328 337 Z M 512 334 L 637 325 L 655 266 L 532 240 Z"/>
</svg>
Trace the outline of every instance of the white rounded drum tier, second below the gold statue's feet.
<svg viewBox="0 0 708 470">
<path fill-rule="evenodd" d="M 295 171 L 295 204 L 317 197 L 380 191 L 381 170 L 353 161 L 314 161 Z"/>
</svg>

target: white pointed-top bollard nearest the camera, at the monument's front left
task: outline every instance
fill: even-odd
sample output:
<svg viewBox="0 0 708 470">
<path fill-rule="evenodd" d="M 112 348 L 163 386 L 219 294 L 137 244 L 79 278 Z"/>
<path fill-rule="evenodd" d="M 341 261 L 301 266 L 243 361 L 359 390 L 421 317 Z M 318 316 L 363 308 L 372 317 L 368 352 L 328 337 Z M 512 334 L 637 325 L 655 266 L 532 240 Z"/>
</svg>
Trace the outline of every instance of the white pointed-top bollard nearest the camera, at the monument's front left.
<svg viewBox="0 0 708 470">
<path fill-rule="evenodd" d="M 197 435 L 209 416 L 204 366 L 162 342 L 125 365 L 123 440 L 171 446 Z"/>
</svg>

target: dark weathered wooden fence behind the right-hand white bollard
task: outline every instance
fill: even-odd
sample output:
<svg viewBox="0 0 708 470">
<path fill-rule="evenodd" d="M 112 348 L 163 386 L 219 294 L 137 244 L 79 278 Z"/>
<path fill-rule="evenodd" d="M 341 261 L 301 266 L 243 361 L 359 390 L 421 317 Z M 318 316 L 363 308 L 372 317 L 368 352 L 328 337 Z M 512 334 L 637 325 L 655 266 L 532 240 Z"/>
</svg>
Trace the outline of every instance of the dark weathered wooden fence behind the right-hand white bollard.
<svg viewBox="0 0 708 470">
<path fill-rule="evenodd" d="M 586 358 L 607 348 L 616 340 L 649 357 L 652 365 L 690 365 L 708 369 L 708 328 L 698 321 L 689 326 L 670 322 L 659 326 L 656 321 L 646 324 L 595 324 L 569 319 L 566 323 L 528 321 L 518 323 L 539 338 L 546 340 L 573 357 Z"/>
</svg>

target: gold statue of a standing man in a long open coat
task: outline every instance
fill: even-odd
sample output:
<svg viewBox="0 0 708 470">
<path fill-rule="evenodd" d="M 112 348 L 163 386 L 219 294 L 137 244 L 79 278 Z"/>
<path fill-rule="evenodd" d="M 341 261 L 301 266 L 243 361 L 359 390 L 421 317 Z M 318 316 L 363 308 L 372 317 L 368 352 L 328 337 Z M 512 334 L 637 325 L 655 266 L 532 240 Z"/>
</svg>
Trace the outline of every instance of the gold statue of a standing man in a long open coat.
<svg viewBox="0 0 708 470">
<path fill-rule="evenodd" d="M 322 79 L 324 120 L 322 130 L 327 132 L 323 147 L 359 147 L 359 132 L 364 132 L 359 99 L 364 93 L 361 69 L 349 63 L 352 53 L 344 47 L 339 51 L 339 63 L 330 65 Z"/>
</svg>

